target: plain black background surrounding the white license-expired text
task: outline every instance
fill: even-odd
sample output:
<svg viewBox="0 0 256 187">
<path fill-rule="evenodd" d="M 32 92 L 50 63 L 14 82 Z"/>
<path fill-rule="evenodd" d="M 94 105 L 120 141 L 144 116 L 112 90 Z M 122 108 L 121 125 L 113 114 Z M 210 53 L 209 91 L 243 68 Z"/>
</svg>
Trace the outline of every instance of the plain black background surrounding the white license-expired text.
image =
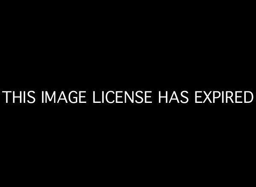
<svg viewBox="0 0 256 187">
<path fill-rule="evenodd" d="M 1 91 L 152 90 L 154 104 L 2 102 L 5 176 L 131 184 L 250 178 L 255 101 L 196 105 L 193 96 L 255 94 L 247 7 L 42 7 L 3 13 Z M 157 104 L 157 91 L 183 90 L 187 105 Z"/>
</svg>

